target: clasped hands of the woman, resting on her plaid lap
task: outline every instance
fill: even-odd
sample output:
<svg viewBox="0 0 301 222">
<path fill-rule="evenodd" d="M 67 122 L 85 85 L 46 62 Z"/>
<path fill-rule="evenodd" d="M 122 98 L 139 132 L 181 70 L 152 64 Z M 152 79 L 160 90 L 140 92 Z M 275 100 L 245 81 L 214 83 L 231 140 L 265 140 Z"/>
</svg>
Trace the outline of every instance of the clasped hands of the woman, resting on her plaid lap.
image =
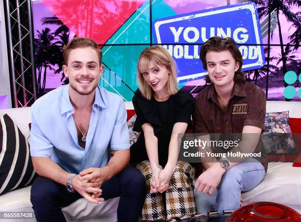
<svg viewBox="0 0 301 222">
<path fill-rule="evenodd" d="M 159 166 L 151 167 L 151 190 L 154 193 L 163 193 L 169 187 L 169 182 L 173 176 L 175 167 L 166 165 L 164 169 Z"/>
</svg>

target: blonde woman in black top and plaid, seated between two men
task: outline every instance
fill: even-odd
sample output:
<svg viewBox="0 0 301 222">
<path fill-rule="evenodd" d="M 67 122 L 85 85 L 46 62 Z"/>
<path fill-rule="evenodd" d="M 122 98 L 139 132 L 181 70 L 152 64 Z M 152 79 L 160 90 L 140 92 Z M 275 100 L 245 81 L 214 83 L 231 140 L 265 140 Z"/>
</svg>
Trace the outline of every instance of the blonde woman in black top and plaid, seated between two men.
<svg viewBox="0 0 301 222">
<path fill-rule="evenodd" d="M 194 169 L 178 161 L 178 134 L 185 133 L 191 123 L 193 97 L 179 91 L 175 61 L 161 46 L 141 53 L 137 80 L 133 131 L 141 135 L 131 146 L 130 163 L 138 163 L 136 167 L 146 178 L 142 219 L 169 220 L 194 214 Z"/>
</svg>

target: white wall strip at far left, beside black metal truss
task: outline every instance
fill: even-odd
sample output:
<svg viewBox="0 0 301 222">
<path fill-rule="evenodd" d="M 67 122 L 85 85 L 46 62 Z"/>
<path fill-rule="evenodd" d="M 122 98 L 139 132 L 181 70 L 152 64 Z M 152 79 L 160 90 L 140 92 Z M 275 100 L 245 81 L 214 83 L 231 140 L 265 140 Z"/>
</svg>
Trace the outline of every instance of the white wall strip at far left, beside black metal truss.
<svg viewBox="0 0 301 222">
<path fill-rule="evenodd" d="M 8 103 L 9 103 L 8 108 L 11 108 L 4 5 L 3 5 L 3 1 L 1 0 L 0 1 L 0 96 L 2 95 L 8 96 Z"/>
</svg>

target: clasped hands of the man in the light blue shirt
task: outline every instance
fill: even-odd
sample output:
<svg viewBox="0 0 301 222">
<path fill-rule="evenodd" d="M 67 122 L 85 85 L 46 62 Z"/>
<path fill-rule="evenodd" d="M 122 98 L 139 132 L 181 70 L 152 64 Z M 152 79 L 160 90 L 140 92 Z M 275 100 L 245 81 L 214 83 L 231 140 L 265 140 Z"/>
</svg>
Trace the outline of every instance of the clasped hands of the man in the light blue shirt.
<svg viewBox="0 0 301 222">
<path fill-rule="evenodd" d="M 100 187 L 108 179 L 109 172 L 106 167 L 90 167 L 72 179 L 72 186 L 86 200 L 98 204 L 100 201 L 104 201 L 104 198 L 100 197 L 102 194 Z"/>
</svg>

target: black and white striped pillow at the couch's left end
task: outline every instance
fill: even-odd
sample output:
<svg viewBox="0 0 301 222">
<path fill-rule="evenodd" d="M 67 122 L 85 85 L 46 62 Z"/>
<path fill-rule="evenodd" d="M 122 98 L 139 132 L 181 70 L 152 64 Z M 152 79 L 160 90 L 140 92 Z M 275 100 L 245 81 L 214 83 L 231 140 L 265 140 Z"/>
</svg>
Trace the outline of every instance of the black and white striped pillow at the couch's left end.
<svg viewBox="0 0 301 222">
<path fill-rule="evenodd" d="M 34 175 L 29 143 L 4 114 L 0 117 L 0 194 L 27 186 Z"/>
</svg>

